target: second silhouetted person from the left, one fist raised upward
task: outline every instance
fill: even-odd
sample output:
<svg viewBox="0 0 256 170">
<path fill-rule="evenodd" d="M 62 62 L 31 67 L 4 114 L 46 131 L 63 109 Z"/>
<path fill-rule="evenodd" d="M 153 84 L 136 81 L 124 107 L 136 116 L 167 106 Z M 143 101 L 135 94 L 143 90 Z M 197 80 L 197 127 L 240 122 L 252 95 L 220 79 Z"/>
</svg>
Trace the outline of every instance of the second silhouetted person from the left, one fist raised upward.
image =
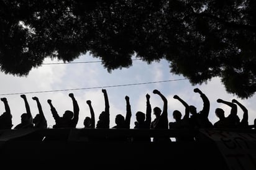
<svg viewBox="0 0 256 170">
<path fill-rule="evenodd" d="M 27 97 L 24 94 L 22 94 L 21 98 L 24 99 L 25 109 L 26 109 L 27 113 L 24 113 L 21 115 L 21 123 L 19 123 L 19 125 L 17 125 L 14 128 L 15 129 L 33 128 L 34 127 L 33 118 L 32 118 L 31 112 L 30 112 L 29 103 L 27 102 Z"/>
</svg>

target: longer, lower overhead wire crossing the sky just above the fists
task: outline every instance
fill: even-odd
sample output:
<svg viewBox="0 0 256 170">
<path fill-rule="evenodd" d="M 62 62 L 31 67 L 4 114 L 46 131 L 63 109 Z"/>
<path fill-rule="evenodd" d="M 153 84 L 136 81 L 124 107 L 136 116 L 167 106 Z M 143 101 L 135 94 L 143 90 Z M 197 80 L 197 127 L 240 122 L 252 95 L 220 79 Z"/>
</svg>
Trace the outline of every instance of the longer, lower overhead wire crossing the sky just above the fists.
<svg viewBox="0 0 256 170">
<path fill-rule="evenodd" d="M 78 90 L 86 90 L 86 89 L 104 89 L 108 87 L 137 86 L 142 84 L 166 83 L 170 81 L 181 81 L 181 80 L 185 80 L 185 79 L 170 79 L 170 80 L 152 81 L 152 82 L 146 82 L 146 83 L 119 84 L 119 85 L 98 86 L 98 87 L 83 87 L 83 88 L 77 88 L 77 89 L 60 89 L 60 90 L 52 90 L 52 91 L 16 92 L 16 93 L 0 94 L 0 96 L 10 96 L 10 95 L 16 95 L 16 94 L 34 94 L 34 93 L 43 93 L 43 92 L 78 91 Z"/>
</svg>

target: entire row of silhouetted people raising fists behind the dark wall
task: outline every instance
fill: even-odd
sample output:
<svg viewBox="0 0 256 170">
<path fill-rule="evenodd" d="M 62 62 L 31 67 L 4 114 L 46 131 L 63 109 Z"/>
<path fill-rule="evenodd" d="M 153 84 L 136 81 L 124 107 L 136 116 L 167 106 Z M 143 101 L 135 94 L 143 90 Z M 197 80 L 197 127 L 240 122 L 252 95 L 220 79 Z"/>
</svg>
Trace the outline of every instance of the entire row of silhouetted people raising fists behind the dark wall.
<svg viewBox="0 0 256 170">
<path fill-rule="evenodd" d="M 99 120 L 95 125 L 94 118 L 94 110 L 91 105 L 91 101 L 86 101 L 86 104 L 89 106 L 91 117 L 85 117 L 83 122 L 84 128 L 109 128 L 109 100 L 107 97 L 106 89 L 102 89 L 104 94 L 105 101 L 105 110 L 101 112 L 99 115 Z M 157 94 L 163 101 L 163 108 L 154 107 L 153 114 L 155 115 L 155 119 L 152 121 L 152 108 L 150 105 L 150 95 L 146 94 L 146 112 L 138 111 L 135 114 L 136 122 L 134 123 L 135 129 L 188 129 L 188 130 L 196 130 L 199 128 L 255 128 L 254 125 L 249 125 L 248 122 L 248 110 L 244 105 L 240 104 L 239 101 L 233 99 L 231 102 L 224 101 L 222 99 L 217 99 L 217 102 L 226 104 L 231 107 L 231 112 L 227 117 L 224 114 L 224 110 L 221 108 L 217 108 L 215 110 L 216 116 L 219 120 L 215 123 L 211 123 L 208 119 L 210 102 L 208 97 L 201 92 L 198 88 L 194 89 L 194 92 L 198 93 L 203 100 L 203 109 L 201 111 L 197 111 L 194 105 L 188 105 L 183 99 L 179 96 L 173 96 L 173 99 L 177 99 L 181 102 L 181 104 L 185 107 L 185 114 L 182 117 L 182 114 L 179 110 L 173 111 L 173 119 L 175 122 L 168 122 L 168 113 L 167 113 L 167 105 L 168 101 L 163 94 L 157 89 L 153 90 L 153 94 Z M 52 104 L 52 101 L 48 99 L 48 104 L 50 105 L 50 110 L 52 112 L 53 118 L 55 119 L 55 125 L 53 128 L 76 128 L 76 124 L 78 123 L 78 115 L 79 115 L 79 106 L 76 101 L 73 93 L 69 94 L 73 102 L 73 111 L 66 110 L 65 113 L 60 117 L 58 115 L 57 110 Z M 47 120 L 43 115 L 42 106 L 37 97 L 32 97 L 32 99 L 37 102 L 37 107 L 39 109 L 39 114 L 35 115 L 34 119 L 30 112 L 29 103 L 27 102 L 27 98 L 24 94 L 21 95 L 21 98 L 25 102 L 26 113 L 21 115 L 21 123 L 16 125 L 14 129 L 22 129 L 22 128 L 47 128 Z M 116 125 L 112 128 L 130 128 L 130 119 L 132 117 L 132 112 L 130 109 L 129 97 L 125 97 L 126 100 L 126 117 L 121 114 L 116 115 L 115 123 Z M 4 107 L 6 112 L 0 115 L 0 129 L 11 129 L 12 128 L 12 115 L 11 110 L 9 108 L 8 102 L 6 98 L 1 98 L 1 101 L 4 102 Z M 244 114 L 242 120 L 237 115 L 237 106 L 239 106 Z M 256 119 L 255 119 L 256 120 Z M 150 138 L 147 137 L 137 137 L 133 139 L 134 141 L 149 141 Z M 153 138 L 153 141 L 158 140 L 170 140 L 170 138 Z M 193 138 L 190 137 L 179 137 L 176 138 L 176 141 L 190 141 Z"/>
</svg>

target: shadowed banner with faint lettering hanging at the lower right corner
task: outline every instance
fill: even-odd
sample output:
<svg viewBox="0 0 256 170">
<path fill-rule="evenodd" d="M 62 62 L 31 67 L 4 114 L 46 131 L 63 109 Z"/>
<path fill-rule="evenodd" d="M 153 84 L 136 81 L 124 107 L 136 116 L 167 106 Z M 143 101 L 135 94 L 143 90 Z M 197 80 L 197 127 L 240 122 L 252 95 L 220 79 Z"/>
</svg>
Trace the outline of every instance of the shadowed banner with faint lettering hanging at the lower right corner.
<svg viewBox="0 0 256 170">
<path fill-rule="evenodd" d="M 200 130 L 214 140 L 229 169 L 256 169 L 256 134 L 228 132 L 224 130 Z"/>
</svg>

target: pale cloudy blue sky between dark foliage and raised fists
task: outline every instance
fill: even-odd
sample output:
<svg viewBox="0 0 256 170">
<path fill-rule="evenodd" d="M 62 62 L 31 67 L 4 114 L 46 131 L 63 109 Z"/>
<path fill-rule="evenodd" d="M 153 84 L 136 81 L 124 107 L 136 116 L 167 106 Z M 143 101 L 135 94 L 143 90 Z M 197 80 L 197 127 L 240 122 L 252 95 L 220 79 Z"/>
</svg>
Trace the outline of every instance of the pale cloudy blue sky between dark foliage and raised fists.
<svg viewBox="0 0 256 170">
<path fill-rule="evenodd" d="M 135 59 L 135 58 L 134 58 Z M 80 58 L 73 62 L 79 61 L 100 61 L 98 58 L 93 58 L 91 55 L 81 55 Z M 63 61 L 51 60 L 46 58 L 44 63 L 63 63 Z M 183 76 L 173 75 L 170 73 L 170 63 L 165 60 L 160 62 L 153 62 L 148 65 L 144 61 L 134 60 L 130 68 L 115 69 L 111 73 L 104 69 L 101 63 L 80 63 L 68 65 L 42 65 L 39 68 L 34 68 L 26 77 L 17 77 L 10 74 L 0 73 L 1 89 L 0 94 L 19 93 L 19 92 L 37 92 L 37 91 L 54 91 L 62 89 L 78 89 L 87 87 L 102 87 L 102 86 L 116 86 L 119 84 L 136 84 L 147 83 L 154 81 L 176 80 L 183 79 Z M 239 99 L 237 96 L 227 94 L 224 86 L 221 84 L 219 78 L 213 78 L 207 84 L 192 86 L 188 80 L 170 81 L 166 83 L 142 84 L 137 86 L 120 86 L 107 87 L 107 94 L 109 96 L 110 104 L 110 127 L 115 125 L 114 118 L 117 114 L 126 114 L 125 96 L 130 97 L 130 104 L 132 109 L 132 120 L 130 127 L 134 127 L 135 113 L 137 111 L 145 112 L 145 95 L 150 94 L 150 102 L 152 108 L 158 106 L 163 107 L 163 102 L 159 96 L 153 94 L 153 89 L 158 89 L 168 99 L 168 120 L 173 122 L 173 110 L 180 110 L 185 112 L 183 105 L 173 99 L 176 94 L 190 105 L 197 107 L 198 111 L 203 109 L 203 102 L 199 94 L 194 93 L 193 89 L 198 87 L 208 96 L 211 102 L 211 109 L 209 113 L 209 120 L 216 122 L 217 118 L 214 110 L 221 107 L 225 110 L 227 116 L 230 112 L 229 107 L 216 102 L 217 99 L 231 101 L 237 99 L 245 105 L 249 110 L 249 124 L 253 124 L 256 118 L 255 96 L 250 99 Z M 80 116 L 77 128 L 83 128 L 83 120 L 89 116 L 89 108 L 86 100 L 91 100 L 94 112 L 96 115 L 96 122 L 99 114 L 104 110 L 104 97 L 101 88 L 98 89 L 84 89 L 73 91 L 60 92 L 43 92 L 35 94 L 26 94 L 30 104 L 30 110 L 34 117 L 38 114 L 37 105 L 33 96 L 39 97 L 42 104 L 43 112 L 47 119 L 48 127 L 55 124 L 50 106 L 47 104 L 47 99 L 52 99 L 52 103 L 58 111 L 60 116 L 65 110 L 73 110 L 73 105 L 68 94 L 73 92 L 80 106 Z M 1 95 L 6 97 L 11 107 L 12 123 L 16 126 L 21 122 L 21 114 L 25 112 L 24 101 L 19 94 L 16 95 Z M 239 107 L 238 107 L 239 108 Z M 0 105 L 0 112 L 4 112 L 4 105 Z M 238 115 L 242 119 L 242 110 L 238 110 Z M 154 116 L 152 114 L 152 119 Z"/>
</svg>

